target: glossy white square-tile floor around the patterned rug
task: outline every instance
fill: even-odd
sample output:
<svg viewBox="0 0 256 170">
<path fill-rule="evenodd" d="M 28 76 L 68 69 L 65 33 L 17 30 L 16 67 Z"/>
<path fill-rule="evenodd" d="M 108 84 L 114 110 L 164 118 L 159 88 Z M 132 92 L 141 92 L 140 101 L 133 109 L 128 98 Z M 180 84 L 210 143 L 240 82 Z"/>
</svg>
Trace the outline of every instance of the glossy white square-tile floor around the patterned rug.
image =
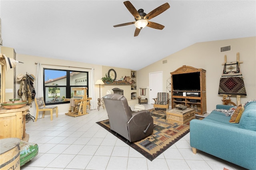
<svg viewBox="0 0 256 170">
<path fill-rule="evenodd" d="M 146 109 L 153 105 L 142 104 Z M 59 106 L 60 107 L 60 106 Z M 133 110 L 134 106 L 130 106 Z M 152 162 L 100 127 L 108 119 L 106 109 L 88 115 L 44 117 L 26 123 L 29 142 L 37 143 L 38 155 L 21 170 L 242 170 L 204 152 L 193 154 L 188 133 Z"/>
</svg>

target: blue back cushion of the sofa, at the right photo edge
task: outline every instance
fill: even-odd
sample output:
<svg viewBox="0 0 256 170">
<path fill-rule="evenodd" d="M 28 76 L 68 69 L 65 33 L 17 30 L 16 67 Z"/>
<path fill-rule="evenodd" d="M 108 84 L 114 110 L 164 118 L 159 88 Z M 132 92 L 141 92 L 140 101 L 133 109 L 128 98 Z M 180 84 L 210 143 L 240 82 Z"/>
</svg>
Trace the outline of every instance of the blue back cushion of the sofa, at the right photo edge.
<svg viewBox="0 0 256 170">
<path fill-rule="evenodd" d="M 239 128 L 256 131 L 256 101 L 246 104 L 240 119 Z"/>
</svg>

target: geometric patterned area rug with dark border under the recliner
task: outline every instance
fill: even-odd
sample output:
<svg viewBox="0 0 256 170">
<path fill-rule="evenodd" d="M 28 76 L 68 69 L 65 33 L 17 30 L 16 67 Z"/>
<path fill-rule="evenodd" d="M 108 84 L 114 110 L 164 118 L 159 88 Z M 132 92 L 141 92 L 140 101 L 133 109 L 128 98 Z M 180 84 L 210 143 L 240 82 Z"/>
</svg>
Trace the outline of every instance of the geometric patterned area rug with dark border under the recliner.
<svg viewBox="0 0 256 170">
<path fill-rule="evenodd" d="M 97 124 L 152 161 L 189 132 L 189 123 L 182 125 L 181 123 L 166 121 L 165 110 L 153 111 L 150 109 L 148 111 L 154 119 L 154 131 L 150 136 L 137 142 L 129 142 L 126 138 L 110 130 L 108 120 L 97 122 Z"/>
</svg>

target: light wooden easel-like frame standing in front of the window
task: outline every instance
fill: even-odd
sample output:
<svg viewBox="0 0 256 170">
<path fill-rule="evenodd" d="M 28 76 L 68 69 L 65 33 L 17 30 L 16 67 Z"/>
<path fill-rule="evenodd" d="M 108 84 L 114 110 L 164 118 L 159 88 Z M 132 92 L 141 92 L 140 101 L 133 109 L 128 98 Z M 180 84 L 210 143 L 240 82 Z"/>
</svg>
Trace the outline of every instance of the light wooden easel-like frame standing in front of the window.
<svg viewBox="0 0 256 170">
<path fill-rule="evenodd" d="M 65 101 L 70 101 L 69 111 L 65 115 L 77 117 L 89 114 L 86 112 L 86 106 L 92 98 L 87 98 L 87 89 L 87 87 L 72 88 L 74 90 L 73 99 L 65 99 Z M 84 91 L 84 95 L 77 95 L 77 91 Z"/>
</svg>

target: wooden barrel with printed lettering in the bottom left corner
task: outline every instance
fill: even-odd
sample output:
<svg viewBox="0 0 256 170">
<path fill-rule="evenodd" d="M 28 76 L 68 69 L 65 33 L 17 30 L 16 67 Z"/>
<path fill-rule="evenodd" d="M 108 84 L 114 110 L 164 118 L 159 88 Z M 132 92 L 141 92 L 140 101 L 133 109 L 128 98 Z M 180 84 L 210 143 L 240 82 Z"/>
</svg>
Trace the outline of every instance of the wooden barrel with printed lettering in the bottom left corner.
<svg viewBox="0 0 256 170">
<path fill-rule="evenodd" d="M 0 139 L 0 170 L 20 170 L 20 139 Z"/>
</svg>

